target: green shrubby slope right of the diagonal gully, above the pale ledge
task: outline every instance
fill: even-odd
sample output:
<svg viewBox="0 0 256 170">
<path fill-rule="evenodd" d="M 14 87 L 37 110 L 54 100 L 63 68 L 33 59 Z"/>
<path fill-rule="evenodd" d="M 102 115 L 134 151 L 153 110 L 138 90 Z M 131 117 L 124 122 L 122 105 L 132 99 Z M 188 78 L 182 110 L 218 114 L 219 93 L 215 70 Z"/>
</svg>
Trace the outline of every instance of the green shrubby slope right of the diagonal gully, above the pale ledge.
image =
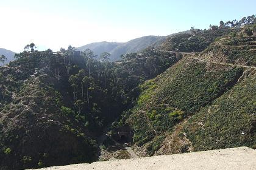
<svg viewBox="0 0 256 170">
<path fill-rule="evenodd" d="M 243 80 L 188 121 L 185 132 L 196 151 L 255 146 L 256 77 L 249 70 L 244 75 Z"/>
</svg>

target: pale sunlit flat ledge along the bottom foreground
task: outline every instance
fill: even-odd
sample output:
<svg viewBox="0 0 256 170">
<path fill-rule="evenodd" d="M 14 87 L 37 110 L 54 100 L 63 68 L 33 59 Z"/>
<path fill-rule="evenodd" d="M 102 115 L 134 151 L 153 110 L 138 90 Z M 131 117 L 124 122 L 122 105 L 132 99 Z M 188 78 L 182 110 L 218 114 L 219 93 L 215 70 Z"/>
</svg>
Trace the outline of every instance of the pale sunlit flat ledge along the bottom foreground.
<svg viewBox="0 0 256 170">
<path fill-rule="evenodd" d="M 256 169 L 256 149 L 247 147 L 127 160 L 98 161 L 45 169 Z M 42 169 L 42 170 L 43 170 Z"/>
</svg>

